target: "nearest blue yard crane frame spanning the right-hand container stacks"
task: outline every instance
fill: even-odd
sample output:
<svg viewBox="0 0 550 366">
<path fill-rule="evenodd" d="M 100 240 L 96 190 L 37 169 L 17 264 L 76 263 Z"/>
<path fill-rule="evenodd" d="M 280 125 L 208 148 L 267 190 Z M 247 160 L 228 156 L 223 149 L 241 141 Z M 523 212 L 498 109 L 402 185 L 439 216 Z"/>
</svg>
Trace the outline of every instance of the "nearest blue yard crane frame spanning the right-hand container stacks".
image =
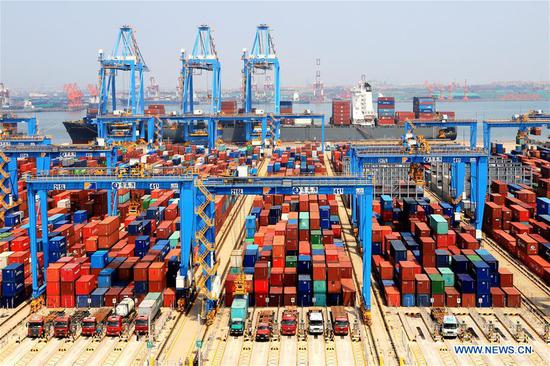
<svg viewBox="0 0 550 366">
<path fill-rule="evenodd" d="M 439 151 L 438 151 L 439 150 Z M 366 164 L 396 164 L 396 163 L 447 163 L 451 164 L 451 186 L 455 190 L 455 199 L 462 196 L 464 192 L 464 181 L 466 176 L 466 164 L 470 164 L 471 201 L 475 204 L 475 226 L 476 235 L 481 237 L 481 226 L 483 223 L 483 210 L 485 208 L 485 195 L 488 182 L 488 160 L 486 151 L 478 151 L 464 148 L 459 145 L 440 146 L 435 145 L 429 154 L 416 153 L 406 154 L 400 151 L 398 146 L 360 146 L 352 145 L 350 148 L 350 171 L 352 174 L 363 174 Z M 355 206 L 355 202 L 353 202 Z M 455 205 L 455 210 L 460 212 L 460 205 Z M 352 209 L 352 220 L 357 222 L 355 209 Z"/>
</svg>

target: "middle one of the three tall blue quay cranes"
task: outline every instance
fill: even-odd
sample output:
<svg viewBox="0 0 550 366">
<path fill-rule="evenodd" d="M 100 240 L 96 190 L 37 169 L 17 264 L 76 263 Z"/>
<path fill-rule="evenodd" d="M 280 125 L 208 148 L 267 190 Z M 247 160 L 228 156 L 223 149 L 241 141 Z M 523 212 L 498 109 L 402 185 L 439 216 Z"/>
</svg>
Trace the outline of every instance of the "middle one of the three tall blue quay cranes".
<svg viewBox="0 0 550 366">
<path fill-rule="evenodd" d="M 181 51 L 181 80 L 182 80 L 182 112 L 193 113 L 193 76 L 200 75 L 203 71 L 212 72 L 212 98 L 211 113 L 216 114 L 221 110 L 221 64 L 216 52 L 216 45 L 212 37 L 212 30 L 208 25 L 198 27 L 195 44 L 190 55 L 185 50 Z"/>
</svg>

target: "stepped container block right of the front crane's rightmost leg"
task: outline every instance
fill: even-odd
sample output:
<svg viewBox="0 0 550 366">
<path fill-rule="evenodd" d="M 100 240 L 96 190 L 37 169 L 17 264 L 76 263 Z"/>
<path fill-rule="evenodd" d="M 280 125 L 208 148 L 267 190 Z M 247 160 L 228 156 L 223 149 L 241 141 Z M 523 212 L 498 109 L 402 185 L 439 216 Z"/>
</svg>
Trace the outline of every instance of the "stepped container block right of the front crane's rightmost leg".
<svg viewBox="0 0 550 366">
<path fill-rule="evenodd" d="M 472 226 L 453 229 L 452 206 L 381 196 L 373 268 L 388 306 L 519 307 L 513 275 L 479 248 Z"/>
</svg>

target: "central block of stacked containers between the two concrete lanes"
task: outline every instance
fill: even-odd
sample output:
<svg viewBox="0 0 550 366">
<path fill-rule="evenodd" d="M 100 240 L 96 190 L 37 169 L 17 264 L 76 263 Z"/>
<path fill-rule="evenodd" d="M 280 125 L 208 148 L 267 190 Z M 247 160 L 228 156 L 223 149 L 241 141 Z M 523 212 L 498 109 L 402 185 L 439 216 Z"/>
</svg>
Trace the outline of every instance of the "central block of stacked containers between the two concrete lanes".
<svg viewBox="0 0 550 366">
<path fill-rule="evenodd" d="M 241 272 L 253 294 L 250 305 L 354 305 L 353 270 L 333 195 L 257 197 L 246 235 L 225 283 L 227 306 Z"/>
</svg>

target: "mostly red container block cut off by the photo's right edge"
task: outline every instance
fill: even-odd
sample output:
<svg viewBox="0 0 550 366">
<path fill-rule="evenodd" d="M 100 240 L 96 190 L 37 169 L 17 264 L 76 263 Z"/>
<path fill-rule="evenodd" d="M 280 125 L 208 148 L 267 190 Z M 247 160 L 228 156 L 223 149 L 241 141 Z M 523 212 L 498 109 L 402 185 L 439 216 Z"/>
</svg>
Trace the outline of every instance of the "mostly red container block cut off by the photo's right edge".
<svg viewBox="0 0 550 366">
<path fill-rule="evenodd" d="M 526 186 L 492 181 L 483 229 L 550 284 L 550 198 Z"/>
</svg>

